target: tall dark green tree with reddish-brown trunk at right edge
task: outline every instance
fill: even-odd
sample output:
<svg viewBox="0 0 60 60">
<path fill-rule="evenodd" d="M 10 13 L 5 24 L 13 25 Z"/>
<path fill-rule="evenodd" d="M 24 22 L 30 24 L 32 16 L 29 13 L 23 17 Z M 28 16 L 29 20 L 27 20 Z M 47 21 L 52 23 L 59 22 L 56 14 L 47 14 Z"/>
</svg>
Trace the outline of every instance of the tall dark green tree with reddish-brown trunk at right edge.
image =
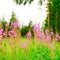
<svg viewBox="0 0 60 60">
<path fill-rule="evenodd" d="M 55 33 L 60 33 L 60 0 L 48 0 L 48 16 L 45 21 L 45 27 L 49 25 Z M 49 21 L 49 24 L 48 24 Z"/>
</svg>

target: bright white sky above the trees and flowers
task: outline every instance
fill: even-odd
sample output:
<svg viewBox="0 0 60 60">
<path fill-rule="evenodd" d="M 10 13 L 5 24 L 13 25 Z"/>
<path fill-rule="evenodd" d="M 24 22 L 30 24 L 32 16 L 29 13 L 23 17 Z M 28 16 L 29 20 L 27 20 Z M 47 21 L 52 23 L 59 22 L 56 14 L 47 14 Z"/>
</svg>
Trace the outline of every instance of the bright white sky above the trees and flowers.
<svg viewBox="0 0 60 60">
<path fill-rule="evenodd" d="M 40 23 L 42 26 L 43 21 L 46 19 L 46 2 L 42 6 L 39 6 L 38 1 L 29 5 L 16 5 L 13 0 L 0 0 L 0 19 L 5 17 L 5 20 L 9 22 L 11 18 L 12 11 L 15 12 L 20 25 L 28 25 L 29 21 L 32 20 L 33 24 Z"/>
</svg>

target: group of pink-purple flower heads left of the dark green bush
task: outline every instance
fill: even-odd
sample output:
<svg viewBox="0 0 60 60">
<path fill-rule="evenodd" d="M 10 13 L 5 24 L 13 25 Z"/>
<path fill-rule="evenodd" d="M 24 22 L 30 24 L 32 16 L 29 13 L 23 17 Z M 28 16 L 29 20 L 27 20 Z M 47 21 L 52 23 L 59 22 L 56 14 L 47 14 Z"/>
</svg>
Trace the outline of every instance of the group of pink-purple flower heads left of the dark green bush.
<svg viewBox="0 0 60 60">
<path fill-rule="evenodd" d="M 0 35 L 3 35 L 2 37 L 5 37 L 6 32 L 7 32 L 9 37 L 14 37 L 16 34 L 15 34 L 13 28 L 18 28 L 19 26 L 20 26 L 20 22 L 12 22 L 11 23 L 12 30 L 9 30 L 9 31 L 5 30 L 4 31 L 3 28 L 0 28 Z M 6 23 L 5 27 L 6 27 L 6 29 L 8 29 L 7 27 L 9 27 L 9 24 Z"/>
</svg>

